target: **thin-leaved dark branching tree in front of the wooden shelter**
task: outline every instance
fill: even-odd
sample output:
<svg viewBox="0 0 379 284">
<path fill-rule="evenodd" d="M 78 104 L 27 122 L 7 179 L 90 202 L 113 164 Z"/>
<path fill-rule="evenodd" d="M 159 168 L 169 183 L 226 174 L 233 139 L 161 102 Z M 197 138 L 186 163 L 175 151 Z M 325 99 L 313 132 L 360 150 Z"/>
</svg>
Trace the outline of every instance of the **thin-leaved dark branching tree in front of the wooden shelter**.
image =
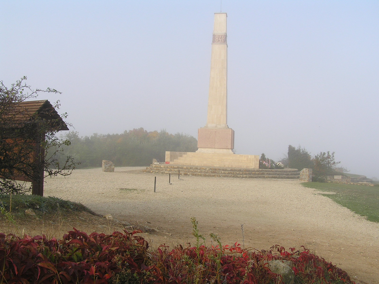
<svg viewBox="0 0 379 284">
<path fill-rule="evenodd" d="M 0 193 L 30 190 L 30 184 L 14 179 L 41 181 L 41 177 L 66 176 L 77 164 L 72 156 L 64 156 L 62 146 L 69 145 L 69 140 L 56 137 L 63 126 L 67 129 L 63 121 L 67 114 L 60 117 L 55 110 L 59 109 L 59 101 L 54 106 L 45 101 L 51 108 L 40 113 L 30 113 L 23 104 L 40 93 L 60 92 L 50 88 L 33 90 L 26 80 L 24 76 L 9 88 L 0 81 Z"/>
</svg>

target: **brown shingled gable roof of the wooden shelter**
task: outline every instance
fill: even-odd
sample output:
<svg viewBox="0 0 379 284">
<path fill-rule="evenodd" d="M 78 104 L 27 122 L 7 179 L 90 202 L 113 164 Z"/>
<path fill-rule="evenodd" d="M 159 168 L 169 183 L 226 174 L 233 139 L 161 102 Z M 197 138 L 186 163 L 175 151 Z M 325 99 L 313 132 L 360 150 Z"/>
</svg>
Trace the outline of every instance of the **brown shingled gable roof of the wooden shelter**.
<svg viewBox="0 0 379 284">
<path fill-rule="evenodd" d="M 15 114 L 16 119 L 25 122 L 30 121 L 33 115 L 46 120 L 54 120 L 52 127 L 57 128 L 57 130 L 69 130 L 67 124 L 48 100 L 19 102 L 15 106 Z"/>
</svg>

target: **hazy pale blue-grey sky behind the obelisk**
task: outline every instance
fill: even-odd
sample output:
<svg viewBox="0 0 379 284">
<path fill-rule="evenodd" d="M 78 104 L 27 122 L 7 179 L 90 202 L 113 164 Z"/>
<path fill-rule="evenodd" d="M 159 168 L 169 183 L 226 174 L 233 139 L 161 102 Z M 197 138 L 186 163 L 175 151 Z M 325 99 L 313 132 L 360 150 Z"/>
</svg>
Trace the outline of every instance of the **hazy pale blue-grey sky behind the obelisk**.
<svg viewBox="0 0 379 284">
<path fill-rule="evenodd" d="M 10 1 L 0 80 L 53 87 L 80 136 L 143 127 L 197 137 L 220 1 Z M 379 1 L 230 1 L 228 125 L 238 154 L 335 151 L 379 177 Z"/>
</svg>

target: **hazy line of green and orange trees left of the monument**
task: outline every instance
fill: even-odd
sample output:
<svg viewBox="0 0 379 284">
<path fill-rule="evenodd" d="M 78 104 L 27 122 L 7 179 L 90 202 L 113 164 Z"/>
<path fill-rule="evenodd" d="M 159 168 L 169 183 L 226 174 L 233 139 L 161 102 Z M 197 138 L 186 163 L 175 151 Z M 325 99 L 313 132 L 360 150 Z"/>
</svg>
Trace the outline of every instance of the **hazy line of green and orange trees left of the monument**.
<svg viewBox="0 0 379 284">
<path fill-rule="evenodd" d="M 64 153 L 80 162 L 77 168 L 101 167 L 102 160 L 110 160 L 117 167 L 148 166 L 152 159 L 164 162 L 165 151 L 197 150 L 197 140 L 193 136 L 169 134 L 166 130 L 148 132 L 142 127 L 125 130 L 122 134 L 95 133 L 85 137 L 70 131 L 63 134 L 61 139 L 70 141 L 70 145 L 63 146 Z"/>
</svg>

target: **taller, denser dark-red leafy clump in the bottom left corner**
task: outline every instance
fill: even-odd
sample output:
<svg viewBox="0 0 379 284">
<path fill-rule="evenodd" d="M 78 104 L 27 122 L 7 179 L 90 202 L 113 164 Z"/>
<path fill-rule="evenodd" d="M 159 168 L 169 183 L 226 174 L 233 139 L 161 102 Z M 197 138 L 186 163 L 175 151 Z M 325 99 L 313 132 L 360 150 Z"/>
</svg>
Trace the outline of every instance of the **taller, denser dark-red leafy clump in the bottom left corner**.
<svg viewBox="0 0 379 284">
<path fill-rule="evenodd" d="M 148 247 L 134 236 L 140 232 L 88 236 L 74 228 L 59 241 L 0 233 L 0 282 L 108 283 L 122 268 L 139 272 Z"/>
</svg>

